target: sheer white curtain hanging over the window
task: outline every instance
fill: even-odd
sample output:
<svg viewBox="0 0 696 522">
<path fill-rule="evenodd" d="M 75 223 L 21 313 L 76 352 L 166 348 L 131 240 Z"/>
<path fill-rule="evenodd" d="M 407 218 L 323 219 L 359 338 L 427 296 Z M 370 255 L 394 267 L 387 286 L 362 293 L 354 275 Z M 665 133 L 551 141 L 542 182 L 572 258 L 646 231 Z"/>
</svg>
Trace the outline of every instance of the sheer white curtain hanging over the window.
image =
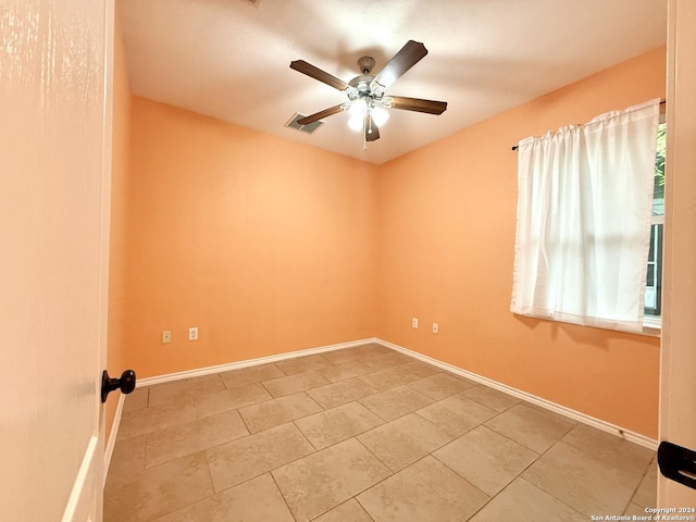
<svg viewBox="0 0 696 522">
<path fill-rule="evenodd" d="M 518 149 L 513 313 L 642 332 L 659 100 Z"/>
</svg>

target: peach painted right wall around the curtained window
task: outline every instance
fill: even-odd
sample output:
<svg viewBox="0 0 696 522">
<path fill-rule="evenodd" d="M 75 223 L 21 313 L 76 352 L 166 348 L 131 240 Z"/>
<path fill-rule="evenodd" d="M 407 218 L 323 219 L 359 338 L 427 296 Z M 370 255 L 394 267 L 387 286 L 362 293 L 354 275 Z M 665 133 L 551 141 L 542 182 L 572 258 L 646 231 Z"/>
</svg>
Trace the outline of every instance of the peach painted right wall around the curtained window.
<svg viewBox="0 0 696 522">
<path fill-rule="evenodd" d="M 517 210 L 510 147 L 663 97 L 664 70 L 662 48 L 382 165 L 377 336 L 656 437 L 658 338 L 510 313 Z"/>
</svg>

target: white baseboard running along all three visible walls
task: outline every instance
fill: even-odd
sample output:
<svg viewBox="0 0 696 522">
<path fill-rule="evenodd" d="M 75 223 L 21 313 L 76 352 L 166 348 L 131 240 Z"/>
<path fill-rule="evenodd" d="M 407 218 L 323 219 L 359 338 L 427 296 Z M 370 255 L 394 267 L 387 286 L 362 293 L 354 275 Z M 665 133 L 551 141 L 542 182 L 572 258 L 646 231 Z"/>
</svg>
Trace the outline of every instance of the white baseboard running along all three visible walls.
<svg viewBox="0 0 696 522">
<path fill-rule="evenodd" d="M 258 359 L 248 359 L 246 361 L 239 361 L 239 362 L 233 362 L 229 364 L 219 364 L 215 366 L 207 366 L 207 368 L 199 368 L 196 370 L 188 370 L 185 372 L 176 372 L 176 373 L 170 373 L 170 374 L 165 374 L 165 375 L 158 375 L 154 377 L 146 377 L 146 378 L 141 378 L 138 381 L 137 386 L 141 387 L 141 386 L 152 386 L 153 384 L 162 384 L 162 383 L 169 383 L 169 382 L 173 382 L 173 381 L 178 381 L 182 378 L 191 378 L 191 377 L 198 377 L 198 376 L 202 376 L 202 375 L 210 375 L 212 373 L 221 373 L 221 372 L 228 372 L 232 370 L 239 370 L 241 368 L 248 368 L 248 366 L 256 366 L 258 364 L 266 364 L 270 362 L 278 362 L 278 361 L 283 361 L 286 359 L 293 359 L 296 357 L 304 357 L 304 356 L 312 356 L 315 353 L 323 353 L 326 351 L 335 351 L 335 350 L 340 350 L 344 348 L 353 348 L 356 346 L 360 346 L 360 345 L 364 345 L 368 343 L 377 343 L 386 348 L 390 348 L 395 351 L 399 351 L 401 353 L 405 353 L 407 356 L 410 356 L 414 359 L 421 360 L 423 362 L 427 362 L 428 364 L 433 364 L 434 366 L 437 368 L 442 368 L 443 370 L 446 370 L 448 372 L 451 372 L 456 375 L 460 375 L 464 378 L 469 378 L 471 381 L 474 381 L 476 383 L 481 383 L 481 384 L 485 384 L 486 386 L 489 386 L 494 389 L 497 389 L 499 391 L 502 391 L 505 394 L 508 395 L 512 395 L 513 397 L 517 397 L 519 399 L 525 400 L 527 402 L 531 402 L 533 405 L 539 406 L 542 408 L 545 408 L 547 410 L 550 410 L 552 412 L 559 413 L 561 415 L 568 417 L 570 419 L 573 419 L 574 421 L 581 422 L 583 424 L 587 424 L 589 426 L 596 427 L 598 430 L 601 430 L 604 432 L 607 433 L 611 433 L 612 435 L 616 435 L 618 437 L 624 438 L 629 442 L 638 444 L 643 447 L 646 447 L 648 449 L 651 449 L 654 451 L 657 450 L 657 440 L 650 438 L 650 437 L 646 437 L 645 435 L 642 435 L 639 433 L 635 433 L 632 432 L 630 430 L 625 430 L 621 426 L 617 426 L 616 424 L 611 424 L 607 421 L 602 421 L 600 419 L 595 419 L 594 417 L 587 415 L 585 413 L 582 413 L 580 411 L 575 411 L 572 410 L 570 408 L 567 408 L 564 406 L 561 405 L 557 405 L 556 402 L 551 402 L 549 400 L 543 399 L 540 397 L 536 397 L 535 395 L 532 394 L 527 394 L 526 391 L 522 391 L 520 389 L 513 388 L 511 386 L 508 386 L 506 384 L 502 383 L 498 383 L 497 381 L 493 381 L 490 378 L 477 375 L 475 373 L 472 372 L 468 372 L 467 370 L 462 370 L 461 368 L 457 368 L 453 366 L 451 364 L 448 364 L 446 362 L 439 361 L 437 359 L 434 359 L 432 357 L 428 356 L 424 356 L 422 353 L 419 353 L 418 351 L 413 351 L 413 350 L 409 350 L 408 348 L 403 348 L 402 346 L 398 346 L 395 345 L 394 343 L 389 343 L 386 340 L 382 340 L 377 337 L 370 337 L 366 339 L 359 339 L 359 340 L 352 340 L 352 341 L 348 341 L 348 343 L 339 343 L 336 345 L 327 345 L 327 346 L 320 346 L 316 348 L 309 348 L 306 350 L 297 350 L 297 351 L 289 351 L 286 353 L 281 353 L 281 355 L 276 355 L 276 356 L 269 356 L 269 357 L 261 357 Z M 115 444 L 115 438 L 116 438 L 116 433 L 119 431 L 119 423 L 121 421 L 121 413 L 123 411 L 123 401 L 125 399 L 125 396 L 121 396 L 120 400 L 119 400 L 119 408 L 116 410 L 116 415 L 114 418 L 114 422 L 113 422 L 113 427 L 111 430 L 111 435 L 109 437 L 109 443 L 107 445 L 107 450 L 105 450 L 105 455 L 104 455 L 104 463 L 105 463 L 105 469 L 109 469 L 109 462 L 111 461 L 111 455 L 113 453 L 113 445 Z M 105 475 L 105 473 L 104 473 Z"/>
</svg>

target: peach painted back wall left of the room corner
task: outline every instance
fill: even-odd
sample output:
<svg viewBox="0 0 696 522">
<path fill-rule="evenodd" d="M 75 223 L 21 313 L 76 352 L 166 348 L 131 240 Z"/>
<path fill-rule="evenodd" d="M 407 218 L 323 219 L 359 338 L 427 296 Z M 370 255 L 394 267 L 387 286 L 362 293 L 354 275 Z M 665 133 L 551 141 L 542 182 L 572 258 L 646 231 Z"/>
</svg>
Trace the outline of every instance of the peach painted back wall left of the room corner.
<svg viewBox="0 0 696 522">
<path fill-rule="evenodd" d="M 124 335 L 138 375 L 374 336 L 375 165 L 132 103 Z"/>
</svg>

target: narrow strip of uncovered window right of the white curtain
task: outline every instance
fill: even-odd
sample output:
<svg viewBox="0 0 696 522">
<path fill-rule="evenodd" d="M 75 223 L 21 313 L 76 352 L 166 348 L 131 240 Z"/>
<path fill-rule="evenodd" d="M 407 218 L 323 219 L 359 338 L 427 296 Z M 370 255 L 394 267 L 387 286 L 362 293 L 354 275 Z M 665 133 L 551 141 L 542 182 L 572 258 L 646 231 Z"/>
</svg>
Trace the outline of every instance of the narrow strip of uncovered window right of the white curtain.
<svg viewBox="0 0 696 522">
<path fill-rule="evenodd" d="M 652 224 L 645 286 L 646 326 L 659 326 L 662 314 L 662 238 L 664 235 L 664 148 L 667 124 L 660 119 L 655 154 L 655 182 L 652 191 Z"/>
</svg>

